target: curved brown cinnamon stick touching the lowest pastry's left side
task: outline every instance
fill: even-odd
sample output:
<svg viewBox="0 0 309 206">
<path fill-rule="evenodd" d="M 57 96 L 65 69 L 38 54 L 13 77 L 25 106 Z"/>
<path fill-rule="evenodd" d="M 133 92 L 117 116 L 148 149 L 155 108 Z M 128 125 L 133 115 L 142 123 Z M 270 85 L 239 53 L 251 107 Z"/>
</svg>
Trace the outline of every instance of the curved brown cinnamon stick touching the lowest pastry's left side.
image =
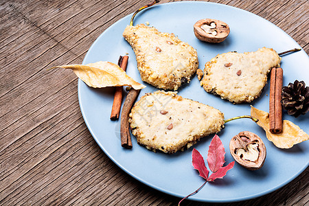
<svg viewBox="0 0 309 206">
<path fill-rule="evenodd" d="M 140 91 L 140 89 L 130 89 L 128 95 L 126 95 L 126 100 L 124 100 L 124 106 L 122 107 L 122 116 L 120 118 L 120 137 L 122 140 L 122 147 L 128 149 L 132 148 L 130 128 L 128 123 L 129 114 Z"/>
</svg>

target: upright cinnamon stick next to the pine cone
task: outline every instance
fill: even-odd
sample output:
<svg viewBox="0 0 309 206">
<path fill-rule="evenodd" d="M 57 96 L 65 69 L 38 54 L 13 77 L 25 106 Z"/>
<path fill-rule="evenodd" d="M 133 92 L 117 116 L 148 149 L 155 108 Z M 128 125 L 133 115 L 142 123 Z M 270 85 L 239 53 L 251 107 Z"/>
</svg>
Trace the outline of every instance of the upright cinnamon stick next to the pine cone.
<svg viewBox="0 0 309 206">
<path fill-rule="evenodd" d="M 269 131 L 273 134 L 282 133 L 282 92 L 283 70 L 271 69 L 271 90 L 269 93 Z"/>
</svg>

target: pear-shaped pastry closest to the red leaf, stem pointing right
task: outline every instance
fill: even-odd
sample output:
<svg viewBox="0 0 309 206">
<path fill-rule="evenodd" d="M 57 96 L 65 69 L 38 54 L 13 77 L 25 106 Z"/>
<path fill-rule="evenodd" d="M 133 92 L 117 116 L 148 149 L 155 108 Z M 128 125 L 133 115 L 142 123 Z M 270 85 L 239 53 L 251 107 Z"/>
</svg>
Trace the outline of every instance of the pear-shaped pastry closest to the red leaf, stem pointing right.
<svg viewBox="0 0 309 206">
<path fill-rule="evenodd" d="M 149 150 L 174 153 L 218 133 L 224 125 L 218 109 L 182 98 L 169 91 L 146 93 L 130 113 L 130 128 L 137 143 Z"/>
</svg>

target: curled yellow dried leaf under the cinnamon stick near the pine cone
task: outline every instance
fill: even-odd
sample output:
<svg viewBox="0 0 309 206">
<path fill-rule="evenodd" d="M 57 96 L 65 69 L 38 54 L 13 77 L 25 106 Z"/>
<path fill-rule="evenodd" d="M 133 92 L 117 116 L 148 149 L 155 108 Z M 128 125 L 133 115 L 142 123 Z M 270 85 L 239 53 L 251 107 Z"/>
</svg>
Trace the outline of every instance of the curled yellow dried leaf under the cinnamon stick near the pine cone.
<svg viewBox="0 0 309 206">
<path fill-rule="evenodd" d="M 291 148 L 295 144 L 309 139 L 304 130 L 288 120 L 282 122 L 282 133 L 273 134 L 269 131 L 269 114 L 251 106 L 251 116 L 259 119 L 257 124 L 265 130 L 266 137 L 278 148 Z"/>
</svg>

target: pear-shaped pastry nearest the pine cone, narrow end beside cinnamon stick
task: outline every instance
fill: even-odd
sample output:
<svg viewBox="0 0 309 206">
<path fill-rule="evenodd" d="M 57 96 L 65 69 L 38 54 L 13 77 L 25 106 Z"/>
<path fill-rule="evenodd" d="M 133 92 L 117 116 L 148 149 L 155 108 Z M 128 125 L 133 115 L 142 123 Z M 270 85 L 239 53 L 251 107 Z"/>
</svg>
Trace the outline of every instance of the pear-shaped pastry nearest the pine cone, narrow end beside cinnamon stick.
<svg viewBox="0 0 309 206">
<path fill-rule="evenodd" d="M 257 52 L 227 52 L 206 63 L 201 85 L 205 91 L 239 104 L 258 98 L 273 67 L 280 67 L 281 57 L 273 49 Z"/>
</svg>

